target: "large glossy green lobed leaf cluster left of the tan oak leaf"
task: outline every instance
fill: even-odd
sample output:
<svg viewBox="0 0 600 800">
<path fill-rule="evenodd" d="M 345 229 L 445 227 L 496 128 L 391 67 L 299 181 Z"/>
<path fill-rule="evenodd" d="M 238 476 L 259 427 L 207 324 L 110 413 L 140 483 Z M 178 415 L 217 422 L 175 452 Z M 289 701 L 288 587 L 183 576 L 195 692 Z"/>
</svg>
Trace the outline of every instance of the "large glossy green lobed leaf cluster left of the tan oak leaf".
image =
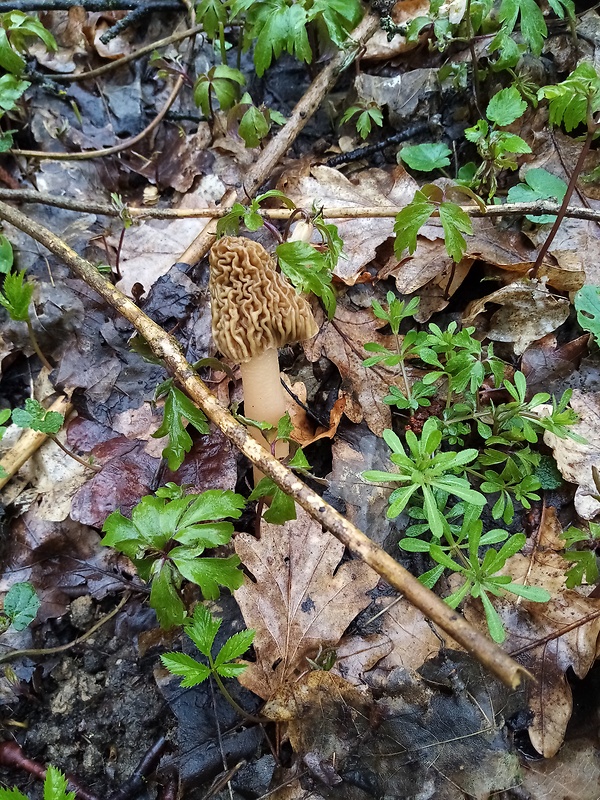
<svg viewBox="0 0 600 800">
<path fill-rule="evenodd" d="M 239 589 L 244 576 L 237 556 L 201 558 L 206 549 L 227 544 L 239 519 L 244 498 L 228 490 L 209 489 L 184 494 L 183 487 L 167 484 L 156 496 L 143 497 L 131 519 L 113 511 L 102 528 L 102 544 L 124 553 L 142 580 L 152 583 L 150 605 L 160 625 L 181 625 L 186 609 L 181 597 L 183 580 L 200 587 L 209 600 L 219 597 L 219 586 Z"/>
</svg>

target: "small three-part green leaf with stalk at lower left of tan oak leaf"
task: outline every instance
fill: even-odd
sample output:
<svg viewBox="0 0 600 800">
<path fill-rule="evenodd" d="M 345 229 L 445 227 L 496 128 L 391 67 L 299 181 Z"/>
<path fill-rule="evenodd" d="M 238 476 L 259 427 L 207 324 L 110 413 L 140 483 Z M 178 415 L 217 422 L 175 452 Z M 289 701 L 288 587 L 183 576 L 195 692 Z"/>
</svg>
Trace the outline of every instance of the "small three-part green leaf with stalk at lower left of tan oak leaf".
<svg viewBox="0 0 600 800">
<path fill-rule="evenodd" d="M 181 685 L 186 689 L 198 686 L 212 676 L 225 699 L 236 711 L 246 717 L 246 712 L 231 697 L 223 683 L 223 678 L 237 678 L 246 669 L 246 664 L 240 664 L 236 659 L 251 646 L 254 640 L 254 631 L 246 630 L 234 633 L 227 639 L 216 656 L 213 656 L 215 638 L 220 627 L 221 620 L 215 619 L 210 611 L 199 603 L 194 608 L 193 617 L 184 623 L 184 630 L 206 658 L 208 664 L 203 664 L 185 653 L 165 653 L 160 658 L 169 672 L 183 678 Z"/>
</svg>

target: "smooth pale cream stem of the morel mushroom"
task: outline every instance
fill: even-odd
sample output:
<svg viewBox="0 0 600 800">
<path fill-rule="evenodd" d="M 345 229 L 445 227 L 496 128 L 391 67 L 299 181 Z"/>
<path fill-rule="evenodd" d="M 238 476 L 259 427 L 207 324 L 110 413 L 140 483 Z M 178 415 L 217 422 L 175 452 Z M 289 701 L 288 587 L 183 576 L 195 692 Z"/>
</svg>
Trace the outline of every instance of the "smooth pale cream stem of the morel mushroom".
<svg viewBox="0 0 600 800">
<path fill-rule="evenodd" d="M 257 422 L 268 422 L 277 427 L 277 423 L 286 412 L 277 350 L 274 347 L 267 348 L 251 358 L 250 361 L 240 364 L 240 370 L 244 389 L 244 416 L 255 419 Z M 250 434 L 264 448 L 271 450 L 271 445 L 258 428 L 250 428 Z M 276 458 L 285 458 L 289 452 L 288 442 L 275 444 Z M 255 484 L 262 477 L 262 472 L 255 469 Z"/>
</svg>

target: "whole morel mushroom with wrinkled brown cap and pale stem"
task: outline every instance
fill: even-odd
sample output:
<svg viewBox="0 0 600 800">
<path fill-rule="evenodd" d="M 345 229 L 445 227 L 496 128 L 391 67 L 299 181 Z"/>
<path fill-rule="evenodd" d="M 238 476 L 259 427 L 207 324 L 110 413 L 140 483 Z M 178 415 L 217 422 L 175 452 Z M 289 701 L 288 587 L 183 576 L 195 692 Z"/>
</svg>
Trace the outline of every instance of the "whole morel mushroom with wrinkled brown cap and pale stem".
<svg viewBox="0 0 600 800">
<path fill-rule="evenodd" d="M 212 246 L 209 262 L 213 338 L 240 365 L 244 414 L 276 426 L 286 411 L 277 349 L 317 333 L 310 305 L 251 239 L 224 236 Z M 251 435 L 270 449 L 256 428 Z M 278 442 L 275 455 L 288 453 L 287 442 Z"/>
</svg>

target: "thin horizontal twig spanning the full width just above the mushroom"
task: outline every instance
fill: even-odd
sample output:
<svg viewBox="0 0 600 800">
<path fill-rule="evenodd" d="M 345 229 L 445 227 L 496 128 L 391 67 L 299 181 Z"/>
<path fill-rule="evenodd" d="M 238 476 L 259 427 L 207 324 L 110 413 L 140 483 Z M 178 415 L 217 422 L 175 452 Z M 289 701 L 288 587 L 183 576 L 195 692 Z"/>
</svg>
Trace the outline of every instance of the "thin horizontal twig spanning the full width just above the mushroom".
<svg viewBox="0 0 600 800">
<path fill-rule="evenodd" d="M 71 200 L 68 197 L 58 197 L 35 189 L 0 189 L 0 200 L 9 200 L 14 203 L 40 203 L 42 205 L 64 208 L 68 211 L 79 211 L 82 214 L 102 214 L 106 217 L 118 217 L 120 212 L 109 203 L 97 203 L 92 200 Z M 395 217 L 403 206 L 330 206 L 319 209 L 320 213 L 328 219 L 363 219 Z M 505 203 L 500 206 L 475 205 L 461 206 L 470 217 L 508 217 L 541 214 L 558 214 L 561 206 L 550 200 L 536 200 L 534 203 Z M 142 206 L 127 206 L 127 211 L 137 219 L 190 219 L 224 217 L 229 213 L 228 208 L 144 208 Z M 265 219 L 287 220 L 297 209 L 289 208 L 263 208 L 260 210 Z M 435 216 L 435 213 L 434 213 Z M 587 219 L 600 222 L 600 209 L 586 208 L 584 206 L 568 206 L 565 217 Z"/>
</svg>

